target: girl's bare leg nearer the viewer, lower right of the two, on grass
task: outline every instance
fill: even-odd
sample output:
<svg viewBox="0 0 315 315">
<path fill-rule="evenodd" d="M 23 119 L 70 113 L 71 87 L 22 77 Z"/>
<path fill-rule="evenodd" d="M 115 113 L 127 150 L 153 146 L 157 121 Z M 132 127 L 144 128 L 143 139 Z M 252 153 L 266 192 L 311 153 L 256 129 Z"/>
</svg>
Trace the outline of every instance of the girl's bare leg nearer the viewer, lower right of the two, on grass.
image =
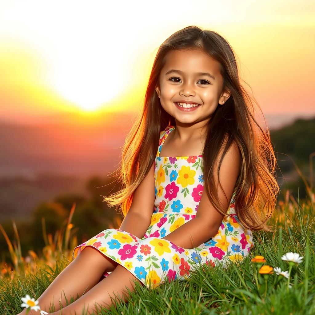
<svg viewBox="0 0 315 315">
<path fill-rule="evenodd" d="M 137 279 L 137 281 L 135 281 L 135 279 Z M 88 293 L 84 294 L 70 305 L 62 308 L 60 311 L 49 315 L 81 315 L 83 310 L 85 311 L 85 314 L 91 314 L 92 312 L 97 314 L 97 311 L 100 311 L 101 306 L 109 309 L 110 306 L 114 304 L 116 307 L 117 298 L 115 295 L 119 296 L 123 301 L 126 301 L 128 297 L 126 287 L 130 292 L 133 292 L 135 288 L 134 281 L 140 282 L 140 280 L 125 267 L 117 265 L 112 273 L 96 284 Z M 142 282 L 140 282 L 140 284 L 144 286 Z M 111 297 L 113 301 L 111 300 Z M 96 309 L 95 304 L 98 309 Z"/>
</svg>

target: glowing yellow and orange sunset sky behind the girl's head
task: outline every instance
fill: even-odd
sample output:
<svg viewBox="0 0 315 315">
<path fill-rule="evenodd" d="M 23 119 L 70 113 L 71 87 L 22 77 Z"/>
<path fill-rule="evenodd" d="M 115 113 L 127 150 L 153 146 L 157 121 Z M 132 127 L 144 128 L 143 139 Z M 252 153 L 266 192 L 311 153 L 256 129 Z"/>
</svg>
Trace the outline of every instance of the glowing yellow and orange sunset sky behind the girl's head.
<svg viewBox="0 0 315 315">
<path fill-rule="evenodd" d="M 315 115 L 314 7 L 314 1 L 0 1 L 0 119 L 134 112 L 159 45 L 189 25 L 228 40 L 266 115 Z"/>
</svg>

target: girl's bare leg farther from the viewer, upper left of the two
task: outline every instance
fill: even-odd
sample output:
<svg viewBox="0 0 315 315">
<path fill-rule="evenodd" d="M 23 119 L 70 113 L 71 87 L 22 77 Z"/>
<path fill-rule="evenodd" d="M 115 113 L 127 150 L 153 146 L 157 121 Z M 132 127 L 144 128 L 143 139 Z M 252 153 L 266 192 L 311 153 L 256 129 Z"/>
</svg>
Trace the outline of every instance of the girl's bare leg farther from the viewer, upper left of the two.
<svg viewBox="0 0 315 315">
<path fill-rule="evenodd" d="M 94 247 L 87 246 L 60 274 L 53 280 L 49 287 L 38 298 L 41 310 L 49 312 L 60 310 L 60 303 L 66 306 L 66 298 L 70 302 L 89 291 L 100 281 L 104 271 L 113 271 L 117 262 L 101 254 Z M 65 298 L 66 296 L 66 298 Z M 25 315 L 24 309 L 18 315 Z M 29 315 L 39 312 L 30 311 Z"/>
</svg>

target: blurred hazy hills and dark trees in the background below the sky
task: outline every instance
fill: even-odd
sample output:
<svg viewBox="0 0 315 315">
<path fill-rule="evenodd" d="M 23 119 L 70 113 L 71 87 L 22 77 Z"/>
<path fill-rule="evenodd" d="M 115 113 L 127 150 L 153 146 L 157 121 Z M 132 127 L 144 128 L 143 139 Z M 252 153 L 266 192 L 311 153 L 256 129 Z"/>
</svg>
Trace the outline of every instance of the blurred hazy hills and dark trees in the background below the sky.
<svg viewBox="0 0 315 315">
<path fill-rule="evenodd" d="M 28 169 L 25 174 L 0 176 L 0 223 L 12 240 L 11 219 L 16 222 L 22 251 L 42 250 L 43 229 L 51 238 L 58 238 L 55 233 L 66 224 L 74 203 L 71 232 L 78 243 L 106 228 L 120 226 L 122 215 L 116 213 L 115 207 L 109 209 L 102 196 L 120 188 L 114 174 L 126 132 L 119 128 L 128 130 L 130 117 L 122 116 L 120 125 L 114 123 L 114 117 L 105 118 L 98 122 L 91 119 L 83 125 L 80 117 L 71 123 L 64 119 L 37 126 L 0 125 L 4 148 L 1 169 Z M 305 184 L 297 167 L 309 182 L 309 157 L 315 152 L 315 118 L 297 119 L 270 130 L 270 135 L 280 168 L 278 200 L 284 199 L 288 189 L 292 195 L 305 198 Z M 0 248 L 7 248 L 2 233 Z M 6 250 L 1 252 L 1 259 L 9 259 Z"/>
</svg>

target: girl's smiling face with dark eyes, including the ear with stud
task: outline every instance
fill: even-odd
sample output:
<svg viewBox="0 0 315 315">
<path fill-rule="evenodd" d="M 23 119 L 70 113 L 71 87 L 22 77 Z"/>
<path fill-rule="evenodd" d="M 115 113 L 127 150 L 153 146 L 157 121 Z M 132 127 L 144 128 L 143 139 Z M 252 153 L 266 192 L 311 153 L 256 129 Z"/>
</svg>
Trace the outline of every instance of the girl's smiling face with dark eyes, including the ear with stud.
<svg viewBox="0 0 315 315">
<path fill-rule="evenodd" d="M 226 91 L 220 94 L 222 87 L 217 61 L 201 50 L 174 50 L 167 55 L 156 91 L 162 107 L 176 123 L 197 123 L 209 120 L 222 101 L 224 106 L 230 94 Z M 176 105 L 183 100 L 200 105 L 193 111 L 183 111 Z"/>
</svg>

